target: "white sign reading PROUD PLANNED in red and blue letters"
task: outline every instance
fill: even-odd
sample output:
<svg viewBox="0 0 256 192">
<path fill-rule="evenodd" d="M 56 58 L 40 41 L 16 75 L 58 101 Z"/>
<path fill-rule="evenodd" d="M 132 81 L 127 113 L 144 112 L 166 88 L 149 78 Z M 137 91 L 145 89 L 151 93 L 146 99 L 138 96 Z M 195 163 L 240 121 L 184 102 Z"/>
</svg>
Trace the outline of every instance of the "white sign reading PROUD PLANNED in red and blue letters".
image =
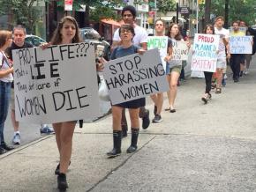
<svg viewBox="0 0 256 192">
<path fill-rule="evenodd" d="M 192 47 L 192 70 L 215 72 L 219 41 L 219 35 L 195 34 Z"/>
</svg>

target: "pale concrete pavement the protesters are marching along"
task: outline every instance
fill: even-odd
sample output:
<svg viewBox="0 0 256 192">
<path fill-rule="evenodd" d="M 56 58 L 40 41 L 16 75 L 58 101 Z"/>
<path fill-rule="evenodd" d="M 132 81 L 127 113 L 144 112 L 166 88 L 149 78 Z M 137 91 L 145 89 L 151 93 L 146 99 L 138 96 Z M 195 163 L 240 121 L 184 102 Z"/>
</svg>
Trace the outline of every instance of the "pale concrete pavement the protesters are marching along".
<svg viewBox="0 0 256 192">
<path fill-rule="evenodd" d="M 207 105 L 200 100 L 204 79 L 184 82 L 177 113 L 163 111 L 163 122 L 141 129 L 134 154 L 125 152 L 129 135 L 122 155 L 106 158 L 112 149 L 111 115 L 77 128 L 68 191 L 256 191 L 255 56 L 252 63 L 250 74 L 237 84 L 229 72 L 222 94 L 213 92 Z M 153 107 L 147 100 L 151 119 Z M 0 191 L 57 191 L 55 137 L 41 137 L 38 125 L 22 129 L 26 144 L 0 156 Z"/>
</svg>

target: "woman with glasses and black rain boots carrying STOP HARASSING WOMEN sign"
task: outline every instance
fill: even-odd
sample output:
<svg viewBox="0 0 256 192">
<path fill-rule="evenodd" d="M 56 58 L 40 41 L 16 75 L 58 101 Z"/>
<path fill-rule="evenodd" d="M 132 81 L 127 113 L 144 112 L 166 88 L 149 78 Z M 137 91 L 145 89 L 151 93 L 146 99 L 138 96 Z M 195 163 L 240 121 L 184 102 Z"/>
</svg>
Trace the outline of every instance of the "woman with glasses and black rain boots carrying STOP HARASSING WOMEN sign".
<svg viewBox="0 0 256 192">
<path fill-rule="evenodd" d="M 121 43 L 119 46 L 114 48 L 111 59 L 117 59 L 123 56 L 132 55 L 135 53 L 143 53 L 145 49 L 139 48 L 133 45 L 132 38 L 135 35 L 134 28 L 125 24 L 120 27 L 119 35 Z M 130 119 L 131 119 L 131 130 L 132 130 L 132 142 L 130 147 L 127 149 L 128 153 L 137 150 L 137 142 L 139 137 L 139 107 L 145 106 L 146 99 L 141 98 L 138 100 L 130 100 L 117 105 L 112 105 L 112 117 L 113 117 L 113 149 L 109 151 L 107 155 L 109 158 L 117 157 L 121 154 L 121 141 L 122 141 L 122 111 L 123 108 L 129 109 Z"/>
</svg>

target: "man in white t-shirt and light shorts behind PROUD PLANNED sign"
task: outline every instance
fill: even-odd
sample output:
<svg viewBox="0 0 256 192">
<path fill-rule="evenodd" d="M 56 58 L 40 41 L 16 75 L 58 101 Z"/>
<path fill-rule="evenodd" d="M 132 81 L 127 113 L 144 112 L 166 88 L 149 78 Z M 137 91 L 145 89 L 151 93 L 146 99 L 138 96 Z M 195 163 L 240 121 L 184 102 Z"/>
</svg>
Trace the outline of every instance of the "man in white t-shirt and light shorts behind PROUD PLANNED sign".
<svg viewBox="0 0 256 192">
<path fill-rule="evenodd" d="M 226 85 L 225 75 L 227 70 L 227 59 L 230 59 L 230 32 L 229 30 L 223 28 L 223 25 L 224 18 L 222 16 L 218 16 L 217 18 L 215 18 L 215 34 L 220 35 L 219 52 L 217 56 L 217 82 L 215 93 L 222 93 L 222 85 Z"/>
</svg>

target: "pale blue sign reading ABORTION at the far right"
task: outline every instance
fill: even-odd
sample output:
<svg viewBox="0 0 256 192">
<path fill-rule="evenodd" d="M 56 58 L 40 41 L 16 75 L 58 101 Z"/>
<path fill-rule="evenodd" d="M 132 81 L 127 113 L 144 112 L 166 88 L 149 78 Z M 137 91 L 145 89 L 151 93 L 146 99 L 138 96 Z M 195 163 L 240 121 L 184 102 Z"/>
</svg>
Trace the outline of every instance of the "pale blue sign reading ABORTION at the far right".
<svg viewBox="0 0 256 192">
<path fill-rule="evenodd" d="M 231 54 L 252 54 L 252 36 L 230 36 Z"/>
</svg>

